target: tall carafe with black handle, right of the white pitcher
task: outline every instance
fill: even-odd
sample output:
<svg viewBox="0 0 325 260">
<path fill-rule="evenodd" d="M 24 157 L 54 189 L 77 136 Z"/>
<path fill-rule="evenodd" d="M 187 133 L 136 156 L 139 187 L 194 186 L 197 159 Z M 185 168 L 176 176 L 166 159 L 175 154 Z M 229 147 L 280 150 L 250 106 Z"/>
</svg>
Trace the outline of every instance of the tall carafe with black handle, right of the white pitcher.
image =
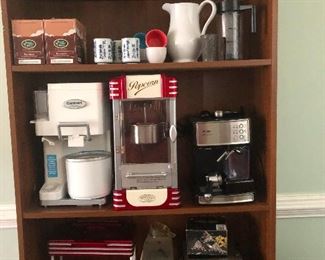
<svg viewBox="0 0 325 260">
<path fill-rule="evenodd" d="M 256 32 L 256 6 L 240 5 L 239 0 L 222 0 L 217 8 L 217 30 L 219 37 L 218 58 L 224 60 L 243 59 L 243 28 L 241 13 L 251 10 L 251 32 Z"/>
</svg>

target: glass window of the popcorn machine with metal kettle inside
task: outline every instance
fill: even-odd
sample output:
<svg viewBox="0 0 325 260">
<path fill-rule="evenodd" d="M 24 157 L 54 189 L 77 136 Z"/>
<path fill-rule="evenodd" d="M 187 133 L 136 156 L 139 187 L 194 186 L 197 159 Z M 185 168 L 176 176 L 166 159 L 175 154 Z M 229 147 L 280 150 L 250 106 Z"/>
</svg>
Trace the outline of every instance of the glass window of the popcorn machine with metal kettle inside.
<svg viewBox="0 0 325 260">
<path fill-rule="evenodd" d="M 168 163 L 168 100 L 122 102 L 122 163 Z"/>
</svg>

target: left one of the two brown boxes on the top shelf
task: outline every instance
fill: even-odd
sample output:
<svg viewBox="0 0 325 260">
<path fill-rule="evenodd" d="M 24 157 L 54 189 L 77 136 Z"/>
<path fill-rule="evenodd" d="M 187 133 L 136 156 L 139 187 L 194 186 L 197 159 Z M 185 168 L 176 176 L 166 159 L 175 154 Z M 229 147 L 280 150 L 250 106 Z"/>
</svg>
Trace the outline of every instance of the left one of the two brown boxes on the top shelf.
<svg viewBox="0 0 325 260">
<path fill-rule="evenodd" d="M 43 20 L 12 20 L 15 64 L 45 64 Z"/>
</svg>

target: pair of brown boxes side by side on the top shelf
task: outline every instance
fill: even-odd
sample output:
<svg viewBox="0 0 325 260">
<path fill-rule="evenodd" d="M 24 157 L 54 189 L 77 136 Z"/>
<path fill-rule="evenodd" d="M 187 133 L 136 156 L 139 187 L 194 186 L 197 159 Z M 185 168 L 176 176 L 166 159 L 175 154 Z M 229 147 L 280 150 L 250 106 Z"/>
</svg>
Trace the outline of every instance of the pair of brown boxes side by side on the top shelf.
<svg viewBox="0 0 325 260">
<path fill-rule="evenodd" d="M 14 63 L 72 64 L 86 58 L 86 29 L 77 19 L 12 20 Z"/>
</svg>

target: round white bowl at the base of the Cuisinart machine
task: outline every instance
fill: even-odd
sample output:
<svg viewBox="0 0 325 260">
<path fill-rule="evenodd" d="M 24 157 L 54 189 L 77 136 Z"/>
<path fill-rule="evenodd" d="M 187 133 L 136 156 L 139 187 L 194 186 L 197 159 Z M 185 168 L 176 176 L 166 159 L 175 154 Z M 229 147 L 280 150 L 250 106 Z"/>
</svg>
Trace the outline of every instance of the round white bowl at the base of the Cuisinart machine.
<svg viewBox="0 0 325 260">
<path fill-rule="evenodd" d="M 65 158 L 68 193 L 72 199 L 107 196 L 112 187 L 111 156 L 106 151 L 84 151 Z"/>
</svg>

